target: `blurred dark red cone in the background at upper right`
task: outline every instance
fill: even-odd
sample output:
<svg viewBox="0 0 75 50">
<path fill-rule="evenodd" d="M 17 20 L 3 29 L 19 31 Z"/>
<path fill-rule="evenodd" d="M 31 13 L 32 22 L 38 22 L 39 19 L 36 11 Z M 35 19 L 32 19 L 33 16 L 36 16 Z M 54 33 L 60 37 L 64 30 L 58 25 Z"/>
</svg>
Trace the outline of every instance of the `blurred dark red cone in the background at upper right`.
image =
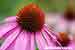
<svg viewBox="0 0 75 50">
<path fill-rule="evenodd" d="M 71 6 L 67 7 L 67 9 L 65 10 L 65 13 L 64 13 L 64 18 L 67 20 L 67 21 L 73 21 L 74 20 L 74 10 Z"/>
</svg>

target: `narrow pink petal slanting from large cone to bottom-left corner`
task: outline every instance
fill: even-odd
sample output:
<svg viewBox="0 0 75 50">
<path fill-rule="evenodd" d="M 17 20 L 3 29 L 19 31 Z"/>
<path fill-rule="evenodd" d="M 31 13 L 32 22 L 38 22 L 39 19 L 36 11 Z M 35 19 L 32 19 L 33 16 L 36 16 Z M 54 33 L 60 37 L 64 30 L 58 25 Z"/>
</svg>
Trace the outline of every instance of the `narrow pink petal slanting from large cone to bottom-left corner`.
<svg viewBox="0 0 75 50">
<path fill-rule="evenodd" d="M 20 28 L 17 28 L 16 30 L 14 30 L 14 32 L 11 33 L 11 35 L 4 41 L 4 43 L 2 44 L 0 49 L 8 50 L 10 48 L 11 43 L 13 44 L 13 41 L 15 41 L 16 38 L 18 37 L 19 32 L 20 32 Z M 12 49 L 10 49 L 10 50 L 12 50 Z"/>
</svg>

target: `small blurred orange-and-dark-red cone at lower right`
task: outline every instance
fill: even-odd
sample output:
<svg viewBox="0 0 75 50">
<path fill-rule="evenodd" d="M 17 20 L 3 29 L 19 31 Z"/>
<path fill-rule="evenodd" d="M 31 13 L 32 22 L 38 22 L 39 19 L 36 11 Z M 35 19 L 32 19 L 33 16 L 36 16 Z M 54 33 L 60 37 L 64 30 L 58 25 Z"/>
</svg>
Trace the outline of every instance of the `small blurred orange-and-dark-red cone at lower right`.
<svg viewBox="0 0 75 50">
<path fill-rule="evenodd" d="M 70 44 L 70 38 L 67 33 L 59 32 L 57 40 L 61 43 L 62 47 L 66 47 Z"/>
</svg>

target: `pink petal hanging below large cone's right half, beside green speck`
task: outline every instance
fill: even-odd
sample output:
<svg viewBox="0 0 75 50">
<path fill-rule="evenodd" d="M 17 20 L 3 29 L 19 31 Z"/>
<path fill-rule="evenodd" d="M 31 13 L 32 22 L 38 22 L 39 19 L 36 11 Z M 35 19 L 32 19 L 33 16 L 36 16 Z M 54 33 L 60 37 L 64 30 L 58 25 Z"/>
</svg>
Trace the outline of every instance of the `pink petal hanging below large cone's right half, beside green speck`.
<svg viewBox="0 0 75 50">
<path fill-rule="evenodd" d="M 42 33 L 40 32 L 36 33 L 36 43 L 37 43 L 37 48 L 39 48 L 39 50 L 44 50 L 44 48 L 47 46 L 47 43 L 42 36 Z"/>
</svg>

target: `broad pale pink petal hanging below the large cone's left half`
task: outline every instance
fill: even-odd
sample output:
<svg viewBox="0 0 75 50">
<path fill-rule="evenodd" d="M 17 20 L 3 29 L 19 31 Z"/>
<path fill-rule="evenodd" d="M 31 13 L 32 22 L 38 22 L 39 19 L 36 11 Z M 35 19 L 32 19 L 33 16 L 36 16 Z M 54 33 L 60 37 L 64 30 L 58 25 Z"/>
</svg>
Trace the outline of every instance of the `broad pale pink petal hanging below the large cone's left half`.
<svg viewBox="0 0 75 50">
<path fill-rule="evenodd" d="M 20 33 L 19 37 L 17 38 L 14 46 L 14 50 L 30 50 L 31 46 L 31 35 L 27 32 Z"/>
</svg>

